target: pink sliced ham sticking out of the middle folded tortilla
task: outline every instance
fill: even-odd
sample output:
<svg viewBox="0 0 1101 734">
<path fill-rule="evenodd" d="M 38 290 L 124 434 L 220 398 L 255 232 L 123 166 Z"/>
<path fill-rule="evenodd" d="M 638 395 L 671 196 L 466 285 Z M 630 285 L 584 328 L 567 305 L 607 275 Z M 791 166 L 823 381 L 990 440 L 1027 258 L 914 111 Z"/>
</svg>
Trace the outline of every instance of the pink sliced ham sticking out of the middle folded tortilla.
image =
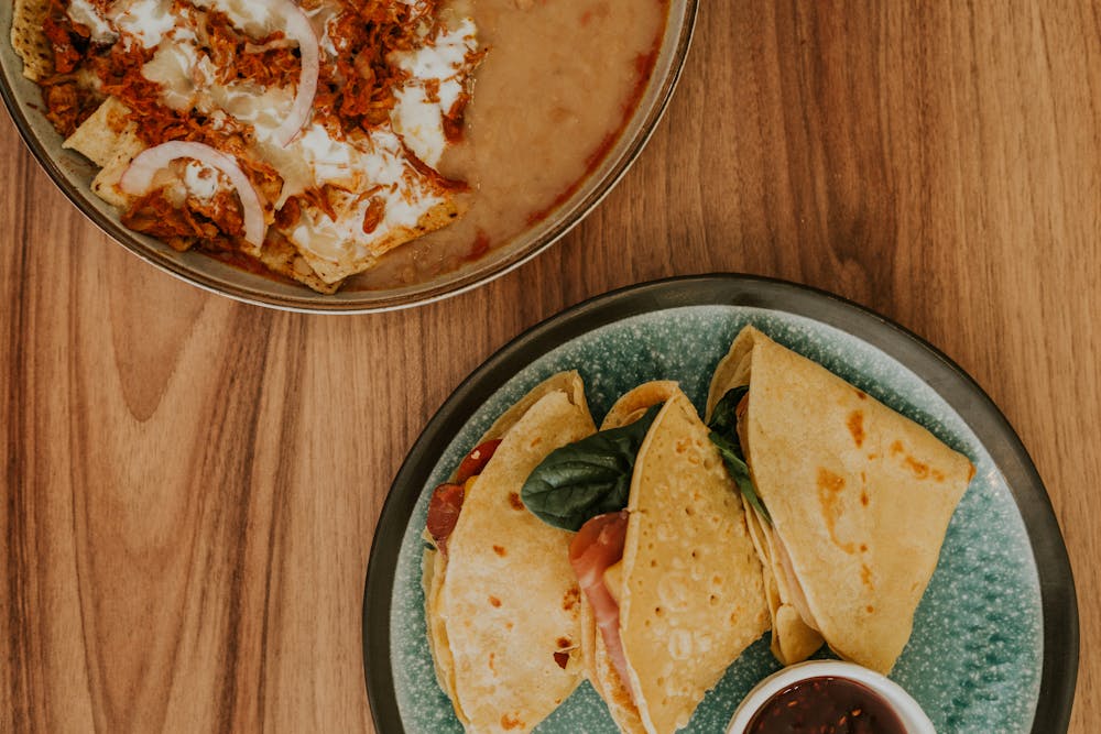
<svg viewBox="0 0 1101 734">
<path fill-rule="evenodd" d="M 623 688 L 631 693 L 631 678 L 628 676 L 626 655 L 620 637 L 619 604 L 604 584 L 604 571 L 623 558 L 626 540 L 628 512 L 607 513 L 589 519 L 573 543 L 569 544 L 569 562 L 577 574 L 577 583 L 592 606 L 597 627 L 608 648 L 612 667 L 623 681 Z"/>
</svg>

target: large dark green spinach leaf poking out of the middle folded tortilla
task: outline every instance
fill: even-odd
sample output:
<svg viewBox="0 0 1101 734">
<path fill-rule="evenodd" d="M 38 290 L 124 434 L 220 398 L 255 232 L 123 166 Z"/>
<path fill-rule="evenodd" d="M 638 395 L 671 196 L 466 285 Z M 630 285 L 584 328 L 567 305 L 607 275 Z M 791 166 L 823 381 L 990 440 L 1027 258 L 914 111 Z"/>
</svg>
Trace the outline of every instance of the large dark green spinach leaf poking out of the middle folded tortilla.
<svg viewBox="0 0 1101 734">
<path fill-rule="evenodd" d="M 552 451 L 524 482 L 524 504 L 547 525 L 575 532 L 597 515 L 623 510 L 639 447 L 662 405 L 628 426 Z"/>
</svg>

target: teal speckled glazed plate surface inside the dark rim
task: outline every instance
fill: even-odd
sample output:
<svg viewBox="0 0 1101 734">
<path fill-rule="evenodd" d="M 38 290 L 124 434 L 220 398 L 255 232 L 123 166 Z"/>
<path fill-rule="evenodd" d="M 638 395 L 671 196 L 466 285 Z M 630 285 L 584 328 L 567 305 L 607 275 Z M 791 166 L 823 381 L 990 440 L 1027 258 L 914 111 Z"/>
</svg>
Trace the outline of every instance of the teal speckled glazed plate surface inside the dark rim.
<svg viewBox="0 0 1101 734">
<path fill-rule="evenodd" d="M 624 319 L 538 357 L 486 402 L 439 458 L 404 534 L 391 606 L 394 687 L 407 732 L 462 732 L 436 683 L 425 631 L 421 529 L 433 486 L 498 415 L 559 370 L 581 373 L 598 424 L 617 397 L 647 380 L 678 381 L 701 409 L 711 371 L 746 324 L 970 457 L 977 475 L 952 517 L 913 636 L 891 678 L 922 704 L 938 732 L 1031 730 L 1043 659 L 1038 574 L 1016 504 L 974 434 L 933 387 L 855 337 L 789 314 L 694 306 Z M 745 693 L 778 667 L 766 634 L 731 665 L 684 731 L 723 732 Z M 617 728 L 593 690 L 582 683 L 536 731 L 614 734 Z"/>
</svg>

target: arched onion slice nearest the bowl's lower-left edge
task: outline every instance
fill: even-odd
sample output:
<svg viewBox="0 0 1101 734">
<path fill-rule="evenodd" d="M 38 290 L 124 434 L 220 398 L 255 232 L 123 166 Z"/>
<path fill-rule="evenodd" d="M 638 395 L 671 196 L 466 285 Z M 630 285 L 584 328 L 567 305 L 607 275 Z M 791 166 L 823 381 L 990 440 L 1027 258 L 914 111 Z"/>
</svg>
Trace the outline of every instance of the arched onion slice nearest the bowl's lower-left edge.
<svg viewBox="0 0 1101 734">
<path fill-rule="evenodd" d="M 130 166 L 119 179 L 119 188 L 132 196 L 141 196 L 153 185 L 153 177 L 177 158 L 194 158 L 199 163 L 217 168 L 229 178 L 241 199 L 244 218 L 244 239 L 257 247 L 263 244 L 268 226 L 264 222 L 264 206 L 252 182 L 244 175 L 237 161 L 216 151 L 204 143 L 190 143 L 174 140 L 161 145 L 154 145 L 134 156 Z"/>
</svg>

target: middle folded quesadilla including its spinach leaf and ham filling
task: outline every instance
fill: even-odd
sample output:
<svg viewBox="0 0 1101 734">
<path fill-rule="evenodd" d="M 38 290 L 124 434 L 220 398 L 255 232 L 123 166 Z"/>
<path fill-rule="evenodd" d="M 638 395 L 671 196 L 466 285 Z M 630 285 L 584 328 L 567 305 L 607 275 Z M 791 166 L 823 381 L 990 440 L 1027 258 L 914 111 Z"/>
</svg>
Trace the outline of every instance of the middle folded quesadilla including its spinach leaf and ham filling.
<svg viewBox="0 0 1101 734">
<path fill-rule="evenodd" d="M 606 471 L 617 463 L 619 476 Z M 588 513 L 609 512 L 570 545 L 587 673 L 621 731 L 672 733 L 768 628 L 761 566 L 738 491 L 676 383 L 620 398 L 599 434 L 541 464 L 524 500 L 576 525 L 598 485 L 607 503 Z"/>
</svg>

